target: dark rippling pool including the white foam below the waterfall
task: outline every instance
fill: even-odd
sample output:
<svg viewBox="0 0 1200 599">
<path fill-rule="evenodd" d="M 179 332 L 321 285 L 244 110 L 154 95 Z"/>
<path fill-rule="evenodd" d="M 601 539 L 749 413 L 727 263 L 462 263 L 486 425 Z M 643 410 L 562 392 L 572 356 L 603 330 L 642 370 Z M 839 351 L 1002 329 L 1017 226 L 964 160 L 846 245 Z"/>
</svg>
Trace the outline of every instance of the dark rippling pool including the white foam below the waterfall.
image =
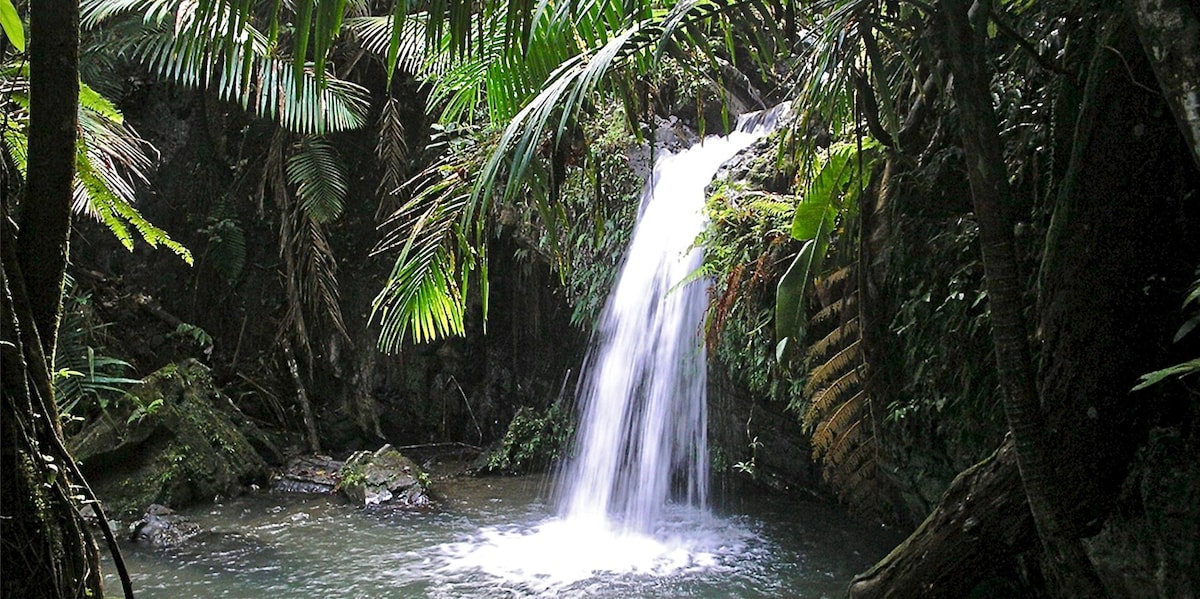
<svg viewBox="0 0 1200 599">
<path fill-rule="evenodd" d="M 652 537 L 623 535 L 553 517 L 544 480 L 458 480 L 416 513 L 259 493 L 186 511 L 209 532 L 184 547 L 124 553 L 145 599 L 818 598 L 841 597 L 898 540 L 796 498 L 668 510 Z"/>
</svg>

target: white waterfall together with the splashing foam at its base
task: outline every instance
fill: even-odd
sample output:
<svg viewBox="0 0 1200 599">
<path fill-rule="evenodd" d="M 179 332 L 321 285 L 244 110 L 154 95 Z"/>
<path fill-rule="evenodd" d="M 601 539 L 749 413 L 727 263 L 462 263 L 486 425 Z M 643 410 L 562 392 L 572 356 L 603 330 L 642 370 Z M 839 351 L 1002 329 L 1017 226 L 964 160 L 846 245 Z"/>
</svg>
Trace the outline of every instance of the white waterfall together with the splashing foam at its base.
<svg viewBox="0 0 1200 599">
<path fill-rule="evenodd" d="M 752 534 L 707 511 L 702 321 L 704 187 L 769 118 L 655 161 L 578 390 L 580 432 L 559 480 L 560 516 L 485 528 L 442 547 L 449 575 L 476 571 L 522 593 L 578 591 L 596 576 L 670 577 L 730 568 Z M 586 594 L 586 593 L 584 593 Z"/>
</svg>

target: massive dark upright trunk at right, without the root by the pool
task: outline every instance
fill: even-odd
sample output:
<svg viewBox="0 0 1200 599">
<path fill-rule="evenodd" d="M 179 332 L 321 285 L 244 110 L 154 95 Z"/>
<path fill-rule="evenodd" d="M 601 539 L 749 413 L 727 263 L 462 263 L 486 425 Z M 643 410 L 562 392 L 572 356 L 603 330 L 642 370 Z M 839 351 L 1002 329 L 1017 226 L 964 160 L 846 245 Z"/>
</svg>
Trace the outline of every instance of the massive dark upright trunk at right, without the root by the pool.
<svg viewBox="0 0 1200 599">
<path fill-rule="evenodd" d="M 1130 26 L 1102 34 L 1039 275 L 1039 393 L 1056 442 L 1054 509 L 1072 535 L 1111 513 L 1154 411 L 1138 377 L 1170 364 L 1194 278 L 1200 172 Z M 1190 196 L 1190 198 L 1189 198 Z"/>
</svg>

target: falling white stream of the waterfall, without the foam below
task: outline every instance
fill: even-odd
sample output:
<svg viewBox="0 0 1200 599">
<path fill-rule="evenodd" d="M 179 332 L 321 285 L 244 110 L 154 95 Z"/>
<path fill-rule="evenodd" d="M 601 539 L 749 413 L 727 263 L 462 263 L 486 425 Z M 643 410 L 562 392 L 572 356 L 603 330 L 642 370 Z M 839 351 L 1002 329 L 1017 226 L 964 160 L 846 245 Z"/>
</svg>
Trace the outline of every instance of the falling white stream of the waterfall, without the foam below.
<svg viewBox="0 0 1200 599">
<path fill-rule="evenodd" d="M 634 238 L 584 360 L 574 457 L 559 479 L 568 521 L 649 533 L 661 510 L 707 508 L 704 187 L 786 107 L 658 157 Z"/>
</svg>

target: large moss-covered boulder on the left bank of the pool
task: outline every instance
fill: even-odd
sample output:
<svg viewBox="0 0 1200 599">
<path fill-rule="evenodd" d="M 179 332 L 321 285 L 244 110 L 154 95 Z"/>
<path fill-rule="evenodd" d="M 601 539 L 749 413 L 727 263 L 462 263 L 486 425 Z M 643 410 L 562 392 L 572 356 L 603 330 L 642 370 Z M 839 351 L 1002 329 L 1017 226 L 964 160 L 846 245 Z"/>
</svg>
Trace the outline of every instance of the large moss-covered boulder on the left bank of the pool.
<svg viewBox="0 0 1200 599">
<path fill-rule="evenodd" d="M 71 438 L 110 515 L 128 517 L 152 503 L 181 508 L 240 493 L 266 479 L 257 435 L 196 360 L 168 365 Z M 149 408 L 149 409 L 148 409 Z"/>
</svg>

